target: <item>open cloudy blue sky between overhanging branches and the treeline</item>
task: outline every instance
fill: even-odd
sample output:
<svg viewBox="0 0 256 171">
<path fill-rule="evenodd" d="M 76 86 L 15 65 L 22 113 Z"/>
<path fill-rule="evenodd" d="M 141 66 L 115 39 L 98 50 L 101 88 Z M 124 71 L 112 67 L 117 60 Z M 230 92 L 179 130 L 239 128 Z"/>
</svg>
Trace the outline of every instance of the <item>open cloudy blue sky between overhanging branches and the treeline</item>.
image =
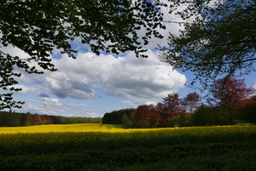
<svg viewBox="0 0 256 171">
<path fill-rule="evenodd" d="M 167 14 L 165 9 L 162 12 L 165 20 L 178 20 Z M 174 23 L 166 23 L 166 27 L 166 31 L 160 31 L 165 37 L 169 31 L 177 34 L 182 29 Z M 23 90 L 13 97 L 26 104 L 13 111 L 65 117 L 103 117 L 106 112 L 162 102 L 173 92 L 183 98 L 195 91 L 184 86 L 192 81 L 193 73 L 173 70 L 169 64 L 160 62 L 155 50 L 157 44 L 164 46 L 167 39 L 153 38 L 149 41 L 144 47 L 148 48 L 148 58 L 137 58 L 133 52 L 96 55 L 78 38 L 72 42 L 73 48 L 79 51 L 76 60 L 60 54 L 58 50 L 51 54 L 52 63 L 58 71 L 44 71 L 43 75 L 37 75 L 16 69 L 22 76 L 17 78 L 19 84 L 15 87 Z M 27 57 L 26 53 L 12 46 L 2 50 L 21 58 Z M 256 83 L 254 73 L 239 78 L 246 79 L 247 87 Z M 4 92 L 0 90 L 0 93 Z"/>
</svg>

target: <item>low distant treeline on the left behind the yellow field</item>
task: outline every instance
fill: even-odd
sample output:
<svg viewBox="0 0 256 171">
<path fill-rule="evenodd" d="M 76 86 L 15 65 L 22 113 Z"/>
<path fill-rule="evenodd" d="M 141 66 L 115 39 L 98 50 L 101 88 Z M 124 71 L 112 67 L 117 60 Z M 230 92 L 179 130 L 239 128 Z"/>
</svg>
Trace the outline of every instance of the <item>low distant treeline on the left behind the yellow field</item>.
<svg viewBox="0 0 256 171">
<path fill-rule="evenodd" d="M 102 117 L 62 117 L 0 111 L 0 127 L 68 123 L 102 123 Z"/>
</svg>

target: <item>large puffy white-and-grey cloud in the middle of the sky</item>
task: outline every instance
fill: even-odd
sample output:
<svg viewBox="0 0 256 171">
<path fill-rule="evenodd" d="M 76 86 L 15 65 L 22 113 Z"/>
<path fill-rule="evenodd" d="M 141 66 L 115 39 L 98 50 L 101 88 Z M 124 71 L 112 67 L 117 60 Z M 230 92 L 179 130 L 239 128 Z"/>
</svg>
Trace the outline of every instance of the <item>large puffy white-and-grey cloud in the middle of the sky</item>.
<svg viewBox="0 0 256 171">
<path fill-rule="evenodd" d="M 77 60 L 55 60 L 58 73 L 42 78 L 44 85 L 58 97 L 88 99 L 96 96 L 93 88 L 101 88 L 110 96 L 131 100 L 136 104 L 160 100 L 183 87 L 186 77 L 160 62 L 158 55 L 148 51 L 148 58 L 92 53 L 78 54 Z"/>
</svg>

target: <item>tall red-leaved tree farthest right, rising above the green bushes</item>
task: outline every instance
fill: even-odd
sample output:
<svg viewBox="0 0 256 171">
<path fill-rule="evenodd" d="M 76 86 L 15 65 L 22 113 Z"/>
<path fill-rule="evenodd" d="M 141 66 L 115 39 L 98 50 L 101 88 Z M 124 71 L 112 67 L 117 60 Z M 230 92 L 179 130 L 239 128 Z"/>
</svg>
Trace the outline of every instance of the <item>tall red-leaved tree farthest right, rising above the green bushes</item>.
<svg viewBox="0 0 256 171">
<path fill-rule="evenodd" d="M 235 111 L 244 105 L 242 100 L 246 100 L 254 92 L 254 88 L 247 88 L 244 79 L 222 78 L 215 80 L 211 85 L 212 97 L 208 98 L 207 101 L 213 107 L 219 107 L 224 111 L 232 123 Z"/>
</svg>

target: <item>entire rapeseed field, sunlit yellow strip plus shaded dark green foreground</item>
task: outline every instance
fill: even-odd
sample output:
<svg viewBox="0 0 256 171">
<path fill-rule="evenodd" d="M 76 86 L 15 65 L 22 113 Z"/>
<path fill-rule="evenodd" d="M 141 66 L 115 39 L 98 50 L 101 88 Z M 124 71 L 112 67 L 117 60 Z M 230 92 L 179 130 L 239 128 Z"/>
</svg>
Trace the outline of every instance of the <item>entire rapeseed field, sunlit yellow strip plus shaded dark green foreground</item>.
<svg viewBox="0 0 256 171">
<path fill-rule="evenodd" d="M 0 128 L 0 171 L 256 170 L 256 126 Z"/>
</svg>

